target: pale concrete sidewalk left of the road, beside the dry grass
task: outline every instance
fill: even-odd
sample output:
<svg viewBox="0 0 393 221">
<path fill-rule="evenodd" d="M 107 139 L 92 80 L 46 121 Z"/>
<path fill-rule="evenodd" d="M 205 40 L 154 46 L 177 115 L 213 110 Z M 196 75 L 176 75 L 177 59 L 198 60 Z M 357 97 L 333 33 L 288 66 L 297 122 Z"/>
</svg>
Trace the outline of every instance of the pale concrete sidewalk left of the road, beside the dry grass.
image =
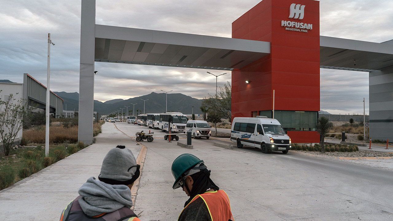
<svg viewBox="0 0 393 221">
<path fill-rule="evenodd" d="M 0 191 L 1 220 L 53 221 L 78 196 L 79 187 L 89 177 L 98 177 L 102 160 L 116 145 L 130 148 L 135 157 L 141 146 L 105 123 L 96 144 Z"/>
</svg>

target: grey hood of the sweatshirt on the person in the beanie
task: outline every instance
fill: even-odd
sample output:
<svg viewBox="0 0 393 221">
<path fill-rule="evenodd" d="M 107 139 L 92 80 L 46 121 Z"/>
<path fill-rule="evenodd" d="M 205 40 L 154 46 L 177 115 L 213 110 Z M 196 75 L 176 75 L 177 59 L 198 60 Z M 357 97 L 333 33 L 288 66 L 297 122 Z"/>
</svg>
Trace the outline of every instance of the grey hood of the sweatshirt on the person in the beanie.
<svg viewBox="0 0 393 221">
<path fill-rule="evenodd" d="M 122 207 L 131 208 L 131 190 L 125 185 L 110 185 L 90 177 L 78 191 L 84 214 L 93 217 Z"/>
</svg>

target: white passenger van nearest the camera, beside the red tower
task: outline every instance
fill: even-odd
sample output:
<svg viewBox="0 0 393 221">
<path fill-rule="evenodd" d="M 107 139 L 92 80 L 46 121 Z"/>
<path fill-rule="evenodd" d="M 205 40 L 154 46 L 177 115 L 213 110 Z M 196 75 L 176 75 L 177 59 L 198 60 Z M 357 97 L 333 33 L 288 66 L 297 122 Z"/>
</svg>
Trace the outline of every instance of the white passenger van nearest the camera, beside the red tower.
<svg viewBox="0 0 393 221">
<path fill-rule="evenodd" d="M 280 122 L 265 116 L 233 118 L 231 141 L 237 143 L 238 148 L 243 145 L 261 148 L 262 153 L 269 150 L 288 153 L 292 143 Z"/>
</svg>

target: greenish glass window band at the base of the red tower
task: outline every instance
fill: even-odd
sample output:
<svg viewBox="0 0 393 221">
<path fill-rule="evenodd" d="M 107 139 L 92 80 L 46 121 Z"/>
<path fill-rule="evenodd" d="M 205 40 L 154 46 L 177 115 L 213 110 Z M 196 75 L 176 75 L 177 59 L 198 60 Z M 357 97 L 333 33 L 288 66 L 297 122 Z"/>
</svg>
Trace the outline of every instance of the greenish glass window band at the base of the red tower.
<svg viewBox="0 0 393 221">
<path fill-rule="evenodd" d="M 259 115 L 266 116 L 271 110 L 263 110 Z M 272 116 L 267 116 L 272 117 Z M 316 131 L 317 111 L 275 110 L 274 118 L 278 120 L 286 131 Z"/>
</svg>

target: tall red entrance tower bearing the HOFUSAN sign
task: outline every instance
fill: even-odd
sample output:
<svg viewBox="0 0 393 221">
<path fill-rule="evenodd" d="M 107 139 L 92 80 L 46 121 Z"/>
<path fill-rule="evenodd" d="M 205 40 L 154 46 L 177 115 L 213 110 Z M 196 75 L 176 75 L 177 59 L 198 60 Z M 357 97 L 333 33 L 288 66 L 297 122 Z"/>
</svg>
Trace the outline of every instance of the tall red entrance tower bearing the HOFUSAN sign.
<svg viewBox="0 0 393 221">
<path fill-rule="evenodd" d="M 274 90 L 274 118 L 292 141 L 319 142 L 319 2 L 263 0 L 232 23 L 232 37 L 270 42 L 270 55 L 232 71 L 232 119 L 272 118 Z"/>
</svg>

